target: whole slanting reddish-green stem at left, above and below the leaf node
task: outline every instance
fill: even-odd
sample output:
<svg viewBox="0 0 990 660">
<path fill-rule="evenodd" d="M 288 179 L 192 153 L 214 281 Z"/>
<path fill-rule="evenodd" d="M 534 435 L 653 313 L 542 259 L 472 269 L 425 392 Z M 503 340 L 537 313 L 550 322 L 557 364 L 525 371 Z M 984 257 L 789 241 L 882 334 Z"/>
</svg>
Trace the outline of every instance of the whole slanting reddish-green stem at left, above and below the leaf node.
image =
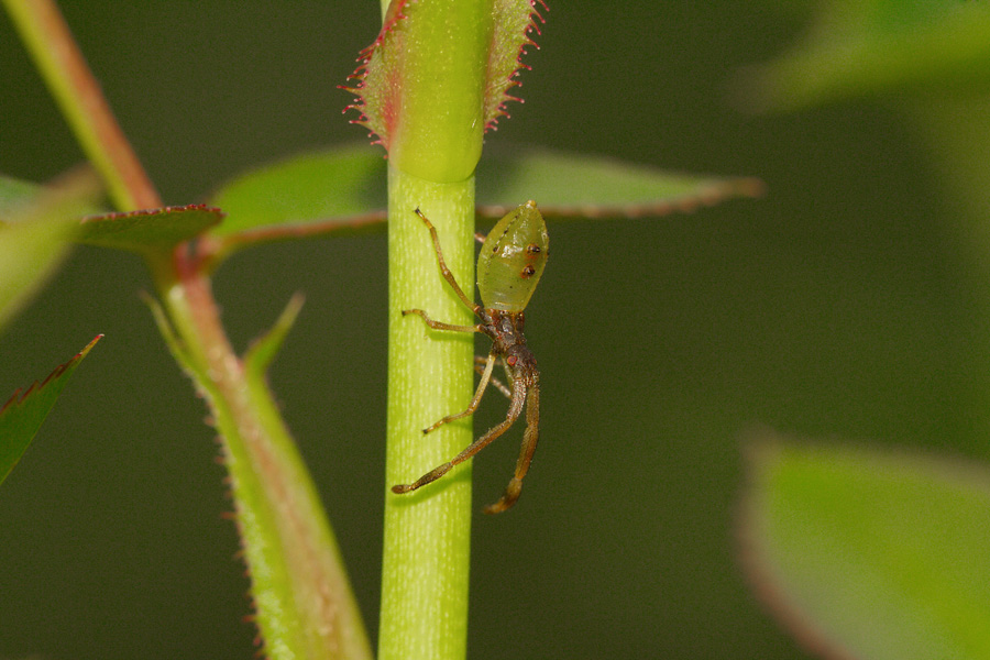
<svg viewBox="0 0 990 660">
<path fill-rule="evenodd" d="M 51 0 L 3 0 L 120 210 L 161 207 Z M 221 431 L 270 658 L 365 660 L 371 651 L 318 494 L 266 387 L 252 383 L 186 245 L 147 256 L 170 336 Z M 163 329 L 170 333 L 170 329 Z M 257 381 L 260 378 L 255 378 Z M 265 588 L 260 588 L 260 580 Z"/>
</svg>

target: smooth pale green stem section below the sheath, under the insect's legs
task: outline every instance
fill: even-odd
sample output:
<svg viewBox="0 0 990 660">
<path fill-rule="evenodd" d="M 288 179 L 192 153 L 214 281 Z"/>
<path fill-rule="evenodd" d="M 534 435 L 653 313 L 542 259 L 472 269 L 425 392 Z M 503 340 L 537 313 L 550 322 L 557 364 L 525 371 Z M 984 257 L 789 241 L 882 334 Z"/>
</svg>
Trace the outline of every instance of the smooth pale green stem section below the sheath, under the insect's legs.
<svg viewBox="0 0 990 660">
<path fill-rule="evenodd" d="M 474 292 L 474 177 L 435 184 L 388 170 L 388 420 L 386 484 L 410 483 L 472 440 L 471 419 L 422 429 L 463 410 L 473 388 L 473 337 L 429 329 L 403 309 L 471 324 L 473 316 L 437 266 L 443 256 L 461 288 Z M 386 494 L 378 660 L 464 658 L 471 535 L 471 471 L 463 464 L 406 495 Z"/>
</svg>

